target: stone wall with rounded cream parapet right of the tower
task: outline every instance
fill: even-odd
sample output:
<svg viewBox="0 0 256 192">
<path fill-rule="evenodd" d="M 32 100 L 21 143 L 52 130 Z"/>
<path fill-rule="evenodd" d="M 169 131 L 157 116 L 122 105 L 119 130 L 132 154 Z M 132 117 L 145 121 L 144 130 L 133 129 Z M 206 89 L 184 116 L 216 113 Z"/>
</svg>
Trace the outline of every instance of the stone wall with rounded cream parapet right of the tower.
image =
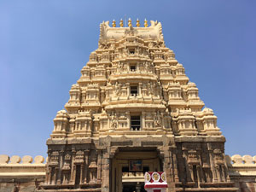
<svg viewBox="0 0 256 192">
<path fill-rule="evenodd" d="M 230 180 L 236 184 L 238 192 L 256 191 L 256 155 L 226 155 Z"/>
</svg>

